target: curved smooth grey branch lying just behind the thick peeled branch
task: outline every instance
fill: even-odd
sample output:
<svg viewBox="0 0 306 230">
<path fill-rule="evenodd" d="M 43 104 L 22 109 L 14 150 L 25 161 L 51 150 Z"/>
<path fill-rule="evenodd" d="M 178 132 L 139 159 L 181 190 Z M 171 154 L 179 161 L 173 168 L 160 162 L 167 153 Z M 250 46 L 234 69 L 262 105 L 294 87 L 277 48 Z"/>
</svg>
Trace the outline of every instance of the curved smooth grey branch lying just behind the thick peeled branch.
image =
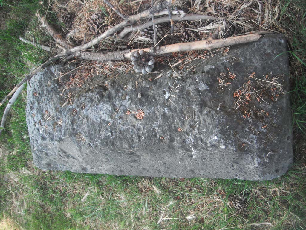
<svg viewBox="0 0 306 230">
<path fill-rule="evenodd" d="M 186 14 L 184 17 L 181 17 L 181 15 L 172 15 L 172 19 L 174 21 L 188 21 L 188 20 L 217 20 L 217 17 L 211 17 L 208 15 L 203 15 L 203 14 Z M 130 33 L 132 31 L 136 31 L 136 30 L 141 30 L 144 28 L 147 28 L 149 26 L 153 25 L 153 22 L 155 24 L 160 24 L 160 23 L 164 23 L 164 22 L 168 22 L 170 21 L 169 17 L 160 17 L 157 19 L 154 19 L 154 21 L 148 21 L 144 24 L 141 25 L 137 25 L 137 26 L 133 26 L 133 27 L 125 27 L 120 33 L 119 33 L 119 37 L 123 38 L 127 33 Z"/>
</svg>

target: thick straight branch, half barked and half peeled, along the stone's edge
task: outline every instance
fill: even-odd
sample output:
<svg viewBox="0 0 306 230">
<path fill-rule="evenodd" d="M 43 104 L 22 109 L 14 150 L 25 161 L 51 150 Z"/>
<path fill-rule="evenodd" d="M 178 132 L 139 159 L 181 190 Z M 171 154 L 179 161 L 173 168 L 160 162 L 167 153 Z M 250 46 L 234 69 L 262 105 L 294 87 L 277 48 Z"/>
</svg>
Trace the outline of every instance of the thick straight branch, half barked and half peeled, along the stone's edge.
<svg viewBox="0 0 306 230">
<path fill-rule="evenodd" d="M 145 52 L 149 52 L 151 55 L 158 56 L 166 53 L 179 52 L 179 51 L 191 51 L 191 50 L 211 50 L 215 48 L 222 48 L 231 45 L 253 42 L 259 40 L 261 35 L 259 34 L 247 34 L 223 39 L 213 39 L 209 38 L 207 40 L 194 41 L 194 42 L 185 42 L 177 43 L 165 46 L 155 47 L 155 50 L 152 51 L 151 48 L 144 48 Z M 92 61 L 118 61 L 131 58 L 132 52 L 135 50 L 125 50 L 118 52 L 109 52 L 109 53 L 94 53 L 94 52 L 78 52 L 77 57 L 85 60 Z"/>
</svg>

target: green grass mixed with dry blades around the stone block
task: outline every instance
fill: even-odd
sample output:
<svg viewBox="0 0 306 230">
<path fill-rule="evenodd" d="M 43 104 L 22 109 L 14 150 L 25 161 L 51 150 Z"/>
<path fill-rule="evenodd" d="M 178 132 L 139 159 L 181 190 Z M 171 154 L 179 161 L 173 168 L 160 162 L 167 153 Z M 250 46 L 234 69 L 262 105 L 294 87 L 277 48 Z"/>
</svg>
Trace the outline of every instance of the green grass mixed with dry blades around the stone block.
<svg viewBox="0 0 306 230">
<path fill-rule="evenodd" d="M 31 45 L 22 44 L 18 36 L 28 30 L 36 40 L 43 42 L 50 38 L 38 28 L 34 17 L 41 7 L 38 1 L 0 1 L 0 4 L 9 12 L 7 27 L 0 31 L 2 99 L 47 55 Z M 292 8 L 296 5 L 298 11 Z M 31 230 L 305 229 L 305 9 L 303 1 L 282 1 L 279 23 L 291 34 L 290 78 L 295 138 L 295 164 L 284 176 L 253 182 L 39 170 L 33 165 L 29 146 L 24 91 L 13 106 L 0 139 L 0 223 L 9 218 L 16 223 L 17 229 L 21 226 L 20 229 Z M 0 117 L 3 110 L 4 107 L 0 107 Z M 245 198 L 246 207 L 241 211 L 230 205 L 237 195 Z"/>
</svg>

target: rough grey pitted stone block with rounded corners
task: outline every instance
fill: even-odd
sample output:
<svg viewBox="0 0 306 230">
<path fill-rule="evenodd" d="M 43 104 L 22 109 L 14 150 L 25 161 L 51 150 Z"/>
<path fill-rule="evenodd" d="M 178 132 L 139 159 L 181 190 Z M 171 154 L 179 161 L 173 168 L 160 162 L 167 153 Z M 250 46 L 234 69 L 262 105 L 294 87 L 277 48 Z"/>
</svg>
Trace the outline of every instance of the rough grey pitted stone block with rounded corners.
<svg viewBox="0 0 306 230">
<path fill-rule="evenodd" d="M 176 79 L 169 66 L 157 67 L 165 72 L 156 80 L 158 74 L 93 77 L 81 89 L 71 89 L 74 102 L 64 107 L 58 80 L 52 80 L 61 67 L 49 67 L 28 87 L 26 112 L 34 163 L 45 170 L 154 177 L 281 176 L 293 162 L 289 95 L 269 104 L 252 96 L 256 108 L 269 112 L 256 120 L 244 118 L 236 109 L 233 93 L 252 72 L 259 79 L 279 75 L 288 91 L 288 58 L 273 60 L 286 46 L 282 35 L 266 35 L 233 47 L 226 55 L 192 62 L 193 72 L 177 71 L 182 79 Z M 217 78 L 227 68 L 237 77 L 221 92 Z M 144 118 L 126 114 L 128 109 L 141 109 Z"/>
</svg>

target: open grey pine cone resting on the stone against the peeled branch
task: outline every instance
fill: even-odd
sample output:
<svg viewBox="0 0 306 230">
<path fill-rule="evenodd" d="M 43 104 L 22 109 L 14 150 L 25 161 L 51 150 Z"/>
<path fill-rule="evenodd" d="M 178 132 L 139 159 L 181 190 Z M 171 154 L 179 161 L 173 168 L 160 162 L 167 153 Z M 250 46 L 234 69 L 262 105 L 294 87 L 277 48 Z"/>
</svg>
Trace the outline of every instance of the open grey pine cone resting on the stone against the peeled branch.
<svg viewBox="0 0 306 230">
<path fill-rule="evenodd" d="M 132 65 L 136 73 L 146 74 L 154 68 L 154 57 L 149 56 L 144 50 L 134 51 L 132 53 Z"/>
</svg>

